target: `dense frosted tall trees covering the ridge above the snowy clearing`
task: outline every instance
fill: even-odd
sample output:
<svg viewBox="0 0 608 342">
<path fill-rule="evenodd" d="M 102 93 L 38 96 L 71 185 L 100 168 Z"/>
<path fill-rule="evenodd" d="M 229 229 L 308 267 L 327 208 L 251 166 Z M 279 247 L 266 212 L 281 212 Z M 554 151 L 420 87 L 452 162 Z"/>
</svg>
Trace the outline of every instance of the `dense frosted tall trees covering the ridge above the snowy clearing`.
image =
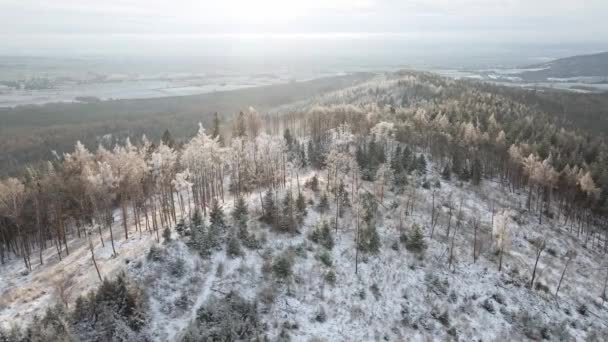
<svg viewBox="0 0 608 342">
<path fill-rule="evenodd" d="M 77 142 L 73 152 L 0 183 L 1 261 L 19 258 L 32 269 L 45 263 L 43 250 L 53 248 L 61 259 L 70 253 L 71 241 L 84 239 L 96 267 L 92 241 L 114 248 L 132 225 L 158 241 L 170 236 L 167 232 L 193 227 L 191 245 L 201 256 L 224 242 L 238 251 L 235 239 L 254 248 L 243 223 L 243 196 L 259 198 L 265 224 L 298 234 L 306 215 L 302 187 L 323 193 L 318 210 L 328 210 L 330 203 L 335 209 L 328 213 L 331 221 L 315 231 L 316 242 L 331 246 L 330 230 L 338 233 L 344 208 L 351 208 L 361 222 L 357 253 L 373 254 L 379 248 L 374 216 L 385 204 L 386 189 L 403 194 L 403 215 L 417 210 L 417 184 L 434 186 L 425 177 L 429 163 L 445 180 L 498 182 L 504 191 L 525 193 L 524 209 L 539 222 L 564 223 L 581 246 L 608 252 L 604 137 L 569 128 L 574 125 L 564 124 L 563 116 L 526 103 L 502 88 L 402 72 L 374 87 L 348 88 L 281 113 L 262 115 L 250 108 L 229 122 L 215 115 L 210 128 L 200 125 L 182 142 L 168 130 L 159 141 L 133 137 L 113 146 L 102 143 L 95 151 Z M 318 176 L 300 182 L 309 170 Z M 236 203 L 234 227 L 224 222 L 221 209 L 228 200 Z M 496 213 L 497 227 L 506 216 Z M 209 217 L 209 227 L 203 217 Z M 115 220 L 123 230 L 112 231 Z M 499 269 L 505 226 L 495 232 Z M 422 239 L 414 232 L 409 248 L 423 248 Z M 544 242 L 536 243 L 540 257 Z M 273 267 L 282 270 L 280 263 Z M 121 281 L 103 287 L 114 291 Z M 125 314 L 133 329 L 138 312 Z"/>
</svg>

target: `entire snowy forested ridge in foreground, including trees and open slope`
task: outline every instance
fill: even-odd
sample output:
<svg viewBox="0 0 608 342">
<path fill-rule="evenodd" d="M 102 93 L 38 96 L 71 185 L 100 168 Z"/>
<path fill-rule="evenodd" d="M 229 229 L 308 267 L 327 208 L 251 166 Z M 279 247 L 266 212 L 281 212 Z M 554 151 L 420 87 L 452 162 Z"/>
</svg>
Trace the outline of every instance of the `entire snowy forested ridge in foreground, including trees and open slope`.
<svg viewBox="0 0 608 342">
<path fill-rule="evenodd" d="M 605 341 L 608 145 L 527 103 L 403 71 L 74 142 L 0 181 L 0 341 Z"/>
</svg>

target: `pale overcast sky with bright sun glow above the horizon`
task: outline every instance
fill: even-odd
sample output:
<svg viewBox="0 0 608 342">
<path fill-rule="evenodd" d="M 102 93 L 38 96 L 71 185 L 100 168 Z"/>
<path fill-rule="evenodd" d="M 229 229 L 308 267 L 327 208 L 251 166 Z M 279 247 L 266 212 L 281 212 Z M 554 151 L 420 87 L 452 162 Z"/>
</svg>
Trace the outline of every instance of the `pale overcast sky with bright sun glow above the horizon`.
<svg viewBox="0 0 608 342">
<path fill-rule="evenodd" d="M 0 54 L 198 54 L 312 40 L 601 47 L 607 15 L 608 0 L 0 0 Z"/>
</svg>

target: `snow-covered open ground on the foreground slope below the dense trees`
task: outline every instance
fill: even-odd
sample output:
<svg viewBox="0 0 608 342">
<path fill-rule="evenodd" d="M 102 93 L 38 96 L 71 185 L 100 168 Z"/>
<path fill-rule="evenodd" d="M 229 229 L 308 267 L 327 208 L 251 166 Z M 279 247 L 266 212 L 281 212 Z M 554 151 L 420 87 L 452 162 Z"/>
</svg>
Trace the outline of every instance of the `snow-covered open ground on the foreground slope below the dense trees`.
<svg viewBox="0 0 608 342">
<path fill-rule="evenodd" d="M 301 176 L 301 183 L 311 176 L 312 172 Z M 439 175 L 432 171 L 427 178 L 439 179 Z M 369 183 L 363 186 L 373 188 Z M 307 199 L 318 202 L 318 195 L 304 188 L 303 191 Z M 484 181 L 476 188 L 441 180 L 441 187 L 435 189 L 436 204 L 447 203 L 451 198 L 458 207 L 462 200 L 464 213 L 464 224 L 456 233 L 455 267 L 450 269 L 445 206 L 430 239 L 432 191 L 418 188 L 414 214 L 404 220 L 406 231 L 413 223 L 423 227 L 429 245 L 424 257 L 406 251 L 398 243 L 398 215 L 408 192 L 395 195 L 389 191 L 383 200 L 384 206 L 380 207 L 381 251 L 377 255 L 361 254 L 357 274 L 355 223 L 350 210 L 334 234 L 335 247 L 330 252 L 333 263 L 328 267 L 318 258 L 323 248 L 308 239 L 310 229 L 320 219 L 319 213 L 309 206 L 299 235 L 275 233 L 257 220 L 260 208 L 255 194 L 249 198 L 249 227 L 258 237 L 266 236 L 267 243 L 262 250 L 243 248 L 245 254 L 234 259 L 218 251 L 209 259 L 201 259 L 174 232 L 177 241 L 162 247 L 168 256 L 166 261 L 159 262 L 146 258 L 150 247 L 156 244 L 154 236 L 149 233 L 140 236 L 132 228 L 129 240 L 117 239 L 117 257 L 111 256 L 109 243 L 102 248 L 96 241 L 96 259 L 103 276 L 112 277 L 126 270 L 135 283 L 146 289 L 151 312 L 147 329 L 158 341 L 172 341 L 182 336 L 195 318 L 196 310 L 211 295 L 222 296 L 234 290 L 254 300 L 258 293 L 269 288 L 275 294 L 274 304 L 261 310 L 261 318 L 271 338 L 289 326 L 288 333 L 295 341 L 314 338 L 425 341 L 454 336 L 467 341 L 526 340 L 536 336 L 534 334 L 546 334 L 551 340 L 567 340 L 567 336 L 575 340 L 592 340 L 592 336 L 605 340 L 608 314 L 599 296 L 606 265 L 599 246 L 594 249 L 588 244 L 583 248 L 583 240 L 576 239 L 560 222 L 545 219 L 538 225 L 535 215 L 520 209 L 524 207 L 525 194 L 509 193 L 495 181 Z M 509 226 L 511 244 L 504 256 L 502 272 L 497 270 L 497 256 L 490 238 L 492 201 L 497 210 L 515 210 L 517 221 L 522 223 Z M 398 205 L 395 207 L 393 203 Z M 232 200 L 227 199 L 224 211 L 228 213 L 231 208 Z M 481 220 L 478 239 L 482 241 L 481 254 L 475 264 L 473 228 L 468 223 L 473 217 Z M 331 214 L 327 214 L 327 219 L 331 219 Z M 115 236 L 121 235 L 120 220 L 114 231 Z M 529 240 L 537 236 L 547 238 L 548 249 L 555 253 L 553 256 L 545 252 L 537 271 L 538 282 L 548 286 L 549 293 L 526 287 L 535 256 Z M 392 248 L 395 242 L 396 249 Z M 59 300 L 56 284 L 62 277 L 70 280 L 71 301 L 99 284 L 88 247 L 76 240 L 69 245 L 70 255 L 62 261 L 53 249 L 45 251 L 46 265 L 36 266 L 28 275 L 22 273 L 21 260 L 13 260 L 2 268 L 0 322 L 4 325 L 23 323 L 33 314 L 42 314 L 45 306 Z M 284 284 L 268 279 L 261 270 L 263 255 L 276 256 L 288 249 L 296 255 L 292 281 Z M 570 265 L 556 299 L 553 293 L 569 249 L 575 249 L 578 256 Z M 170 267 L 177 259 L 184 262 L 184 271 L 179 275 L 172 273 Z M 335 285 L 325 280 L 330 270 L 336 275 Z M 587 307 L 585 315 L 578 310 L 581 304 Z M 323 322 L 315 319 L 321 307 L 327 316 Z M 526 337 L 530 329 L 537 330 Z"/>
</svg>

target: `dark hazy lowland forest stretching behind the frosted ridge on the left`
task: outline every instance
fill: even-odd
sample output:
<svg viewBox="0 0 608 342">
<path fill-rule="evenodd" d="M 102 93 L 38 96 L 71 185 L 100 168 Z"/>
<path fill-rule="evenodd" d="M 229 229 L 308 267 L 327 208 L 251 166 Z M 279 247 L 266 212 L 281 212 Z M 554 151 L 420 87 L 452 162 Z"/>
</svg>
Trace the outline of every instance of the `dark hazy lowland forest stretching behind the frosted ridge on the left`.
<svg viewBox="0 0 608 342">
<path fill-rule="evenodd" d="M 169 129 L 177 139 L 209 126 L 213 113 L 228 121 L 253 106 L 261 112 L 371 78 L 370 73 L 334 76 L 203 95 L 97 103 L 54 103 L 0 108 L 0 175 L 23 165 L 52 158 L 51 151 L 69 151 L 76 140 L 93 148 L 106 134 L 115 137 L 146 134 L 158 139 Z"/>
</svg>

